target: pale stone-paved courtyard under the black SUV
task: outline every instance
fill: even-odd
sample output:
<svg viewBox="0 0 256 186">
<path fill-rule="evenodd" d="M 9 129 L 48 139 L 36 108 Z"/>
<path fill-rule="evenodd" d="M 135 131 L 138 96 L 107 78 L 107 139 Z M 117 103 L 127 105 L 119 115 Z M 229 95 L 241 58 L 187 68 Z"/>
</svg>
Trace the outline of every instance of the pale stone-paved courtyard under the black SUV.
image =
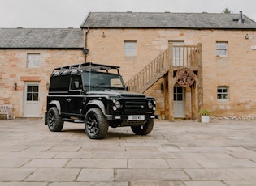
<svg viewBox="0 0 256 186">
<path fill-rule="evenodd" d="M 84 125 L 52 133 L 43 120 L 0 120 L 0 185 L 256 185 L 256 120 L 156 120 L 152 133 Z"/>
</svg>

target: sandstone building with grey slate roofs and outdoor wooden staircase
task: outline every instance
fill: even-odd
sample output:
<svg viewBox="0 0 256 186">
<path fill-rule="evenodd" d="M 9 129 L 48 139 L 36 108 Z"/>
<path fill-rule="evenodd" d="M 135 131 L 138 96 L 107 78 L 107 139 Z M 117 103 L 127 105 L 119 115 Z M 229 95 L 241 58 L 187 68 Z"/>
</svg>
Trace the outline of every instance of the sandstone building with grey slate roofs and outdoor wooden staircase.
<svg viewBox="0 0 256 186">
<path fill-rule="evenodd" d="M 92 12 L 80 29 L 2 28 L 0 104 L 43 116 L 51 70 L 84 61 L 120 66 L 162 119 L 197 119 L 201 108 L 256 116 L 256 23 L 242 12 Z"/>
</svg>

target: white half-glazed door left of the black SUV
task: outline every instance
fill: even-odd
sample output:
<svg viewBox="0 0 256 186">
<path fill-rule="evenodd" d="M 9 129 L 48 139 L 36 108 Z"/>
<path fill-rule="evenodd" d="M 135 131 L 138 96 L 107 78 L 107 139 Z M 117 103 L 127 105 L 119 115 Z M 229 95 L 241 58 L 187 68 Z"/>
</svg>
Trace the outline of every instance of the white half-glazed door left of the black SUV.
<svg viewBox="0 0 256 186">
<path fill-rule="evenodd" d="M 39 83 L 26 82 L 24 96 L 24 116 L 38 117 L 40 116 L 40 100 L 39 100 Z"/>
</svg>

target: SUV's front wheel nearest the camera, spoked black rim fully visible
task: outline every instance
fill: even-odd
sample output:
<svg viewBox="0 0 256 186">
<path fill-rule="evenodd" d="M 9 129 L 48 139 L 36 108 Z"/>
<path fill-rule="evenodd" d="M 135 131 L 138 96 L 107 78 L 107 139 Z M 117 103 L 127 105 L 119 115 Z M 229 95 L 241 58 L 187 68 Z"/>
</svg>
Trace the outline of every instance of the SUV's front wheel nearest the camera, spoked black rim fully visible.
<svg viewBox="0 0 256 186">
<path fill-rule="evenodd" d="M 85 132 L 90 139 L 102 139 L 108 131 L 108 121 L 99 108 L 90 108 L 85 114 Z"/>
</svg>

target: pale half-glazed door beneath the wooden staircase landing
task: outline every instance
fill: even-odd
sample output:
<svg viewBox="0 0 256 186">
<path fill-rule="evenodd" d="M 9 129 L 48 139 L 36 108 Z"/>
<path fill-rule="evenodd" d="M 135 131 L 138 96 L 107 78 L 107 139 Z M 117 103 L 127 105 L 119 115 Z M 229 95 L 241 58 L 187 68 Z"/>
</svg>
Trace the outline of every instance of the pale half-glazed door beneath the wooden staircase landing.
<svg viewBox="0 0 256 186">
<path fill-rule="evenodd" d="M 185 117 L 184 87 L 174 87 L 174 117 Z"/>
</svg>

